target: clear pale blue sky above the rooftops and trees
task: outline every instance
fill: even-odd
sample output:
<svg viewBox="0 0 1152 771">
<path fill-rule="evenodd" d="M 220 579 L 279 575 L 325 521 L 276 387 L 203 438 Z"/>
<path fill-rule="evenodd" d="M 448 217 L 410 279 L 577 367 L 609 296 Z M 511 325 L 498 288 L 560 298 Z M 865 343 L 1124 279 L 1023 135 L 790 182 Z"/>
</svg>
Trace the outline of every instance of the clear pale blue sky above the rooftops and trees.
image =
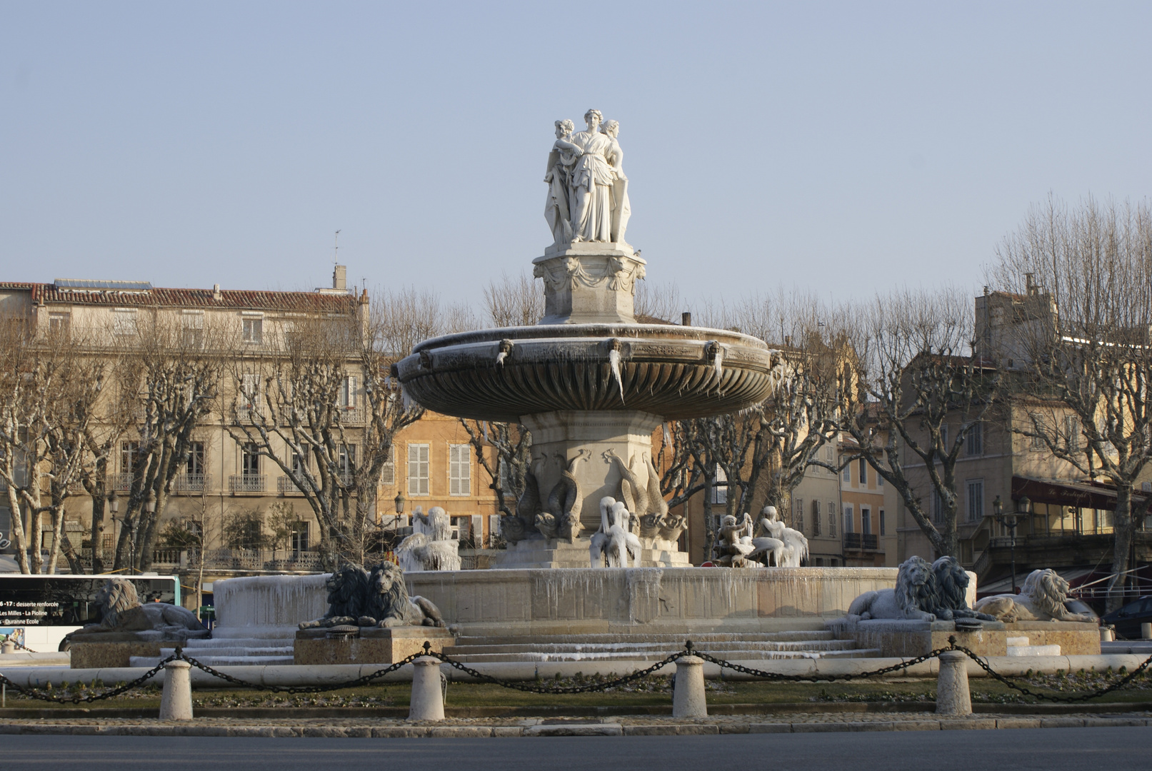
<svg viewBox="0 0 1152 771">
<path fill-rule="evenodd" d="M 687 297 L 979 285 L 1048 191 L 1152 186 L 1152 3 L 0 2 L 0 280 L 475 297 L 621 123 Z"/>
</svg>

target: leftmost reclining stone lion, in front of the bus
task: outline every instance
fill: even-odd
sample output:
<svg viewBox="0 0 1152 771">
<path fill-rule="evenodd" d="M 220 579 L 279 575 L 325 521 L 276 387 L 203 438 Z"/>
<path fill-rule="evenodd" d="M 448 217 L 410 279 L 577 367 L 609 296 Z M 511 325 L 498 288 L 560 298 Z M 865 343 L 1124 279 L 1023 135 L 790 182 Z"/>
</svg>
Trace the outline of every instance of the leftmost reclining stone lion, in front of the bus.
<svg viewBox="0 0 1152 771">
<path fill-rule="evenodd" d="M 96 593 L 100 623 L 65 636 L 60 650 L 74 642 L 183 642 L 211 636 L 196 613 L 166 602 L 141 603 L 136 586 L 114 575 Z"/>
</svg>

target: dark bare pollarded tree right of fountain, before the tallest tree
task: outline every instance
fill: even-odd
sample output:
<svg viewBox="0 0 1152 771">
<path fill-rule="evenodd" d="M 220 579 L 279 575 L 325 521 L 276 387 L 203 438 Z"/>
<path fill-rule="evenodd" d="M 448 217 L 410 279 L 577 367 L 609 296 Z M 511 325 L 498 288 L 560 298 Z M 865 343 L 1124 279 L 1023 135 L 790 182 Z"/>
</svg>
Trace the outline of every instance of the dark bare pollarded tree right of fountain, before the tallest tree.
<svg viewBox="0 0 1152 771">
<path fill-rule="evenodd" d="M 901 496 L 939 555 L 958 556 L 956 461 L 988 415 L 1001 376 L 971 354 L 972 314 L 955 289 L 896 290 L 861 306 L 847 330 L 856 366 L 842 369 L 838 421 L 855 443 L 840 471 L 864 459 Z M 931 501 L 922 498 L 926 475 Z"/>
</svg>

